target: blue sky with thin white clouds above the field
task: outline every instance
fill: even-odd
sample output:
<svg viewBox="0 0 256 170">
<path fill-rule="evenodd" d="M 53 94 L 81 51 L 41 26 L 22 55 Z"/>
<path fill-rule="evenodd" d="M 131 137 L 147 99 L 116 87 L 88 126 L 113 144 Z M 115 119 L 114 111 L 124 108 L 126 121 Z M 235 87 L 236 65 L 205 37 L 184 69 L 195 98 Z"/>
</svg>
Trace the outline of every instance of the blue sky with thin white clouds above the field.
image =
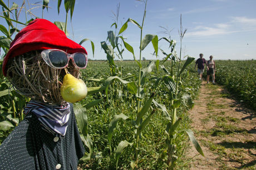
<svg viewBox="0 0 256 170">
<path fill-rule="evenodd" d="M 7 3 L 7 0 L 3 0 Z M 21 6 L 22 1 L 16 2 Z M 32 13 L 37 17 L 42 17 L 42 11 L 32 3 L 42 1 L 32 1 Z M 65 22 L 65 8 L 62 1 L 60 14 L 57 13 L 57 0 L 50 0 L 47 10 L 45 9 L 43 18 L 51 22 Z M 27 1 L 26 1 L 27 3 Z M 114 30 L 111 24 L 115 22 L 117 4 L 120 3 L 118 28 L 126 22 L 128 18 L 142 23 L 144 14 L 144 3 L 135 0 L 105 0 L 88 1 L 76 0 L 75 9 L 70 23 L 68 16 L 68 37 L 79 43 L 82 39 L 88 38 L 95 44 L 94 59 L 106 59 L 104 51 L 101 49 L 100 42 L 107 38 L 107 31 Z M 28 8 L 28 4 L 26 4 Z M 256 1 L 255 0 L 148 0 L 146 9 L 146 19 L 144 22 L 143 35 L 156 34 L 159 38 L 169 37 L 163 34 L 163 28 L 170 30 L 171 39 L 177 41 L 176 51 L 179 53 L 179 33 L 180 14 L 182 14 L 183 28 L 187 29 L 182 43 L 182 56 L 190 55 L 195 58 L 200 53 L 204 54 L 205 59 L 210 55 L 214 59 L 224 60 L 248 60 L 256 59 Z M 1 14 L 2 15 L 2 14 Z M 24 22 L 24 10 L 21 12 L 19 21 Z M 0 23 L 6 26 L 5 20 L 0 18 Z M 117 30 L 118 32 L 119 30 Z M 2 35 L 2 34 L 0 34 Z M 122 34 L 127 38 L 135 51 L 135 56 L 139 59 L 140 29 L 136 25 L 129 23 L 127 30 Z M 82 44 L 88 51 L 88 57 L 93 59 L 90 42 Z M 161 40 L 159 48 L 170 53 L 168 44 Z M 152 56 L 153 48 L 149 44 L 142 57 L 146 59 L 156 59 Z M 160 52 L 159 58 L 164 58 Z M 124 53 L 124 59 L 133 59 L 128 51 Z"/>
</svg>

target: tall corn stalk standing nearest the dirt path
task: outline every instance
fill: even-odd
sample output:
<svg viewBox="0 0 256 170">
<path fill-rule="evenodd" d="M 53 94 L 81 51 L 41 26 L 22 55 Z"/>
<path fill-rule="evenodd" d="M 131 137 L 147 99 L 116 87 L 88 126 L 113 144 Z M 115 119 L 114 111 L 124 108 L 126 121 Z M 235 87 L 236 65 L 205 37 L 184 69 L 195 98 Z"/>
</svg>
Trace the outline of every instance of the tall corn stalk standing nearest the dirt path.
<svg viewBox="0 0 256 170">
<path fill-rule="evenodd" d="M 164 105 L 161 105 L 154 101 L 154 104 L 159 107 L 160 110 L 164 112 L 165 119 L 168 121 L 168 124 L 166 126 L 166 132 L 168 134 L 168 137 L 166 138 L 166 144 L 167 144 L 167 151 L 162 152 L 161 157 L 164 157 L 164 155 L 167 154 L 168 158 L 166 159 L 166 164 L 168 165 L 168 169 L 175 169 L 175 163 L 178 159 L 178 156 L 176 156 L 176 145 L 175 145 L 175 138 L 179 133 L 188 133 L 188 136 L 190 138 L 190 141 L 193 143 L 195 146 L 196 150 L 204 156 L 203 151 L 201 150 L 201 147 L 199 143 L 196 141 L 193 132 L 189 129 L 182 129 L 177 131 L 179 128 L 179 125 L 182 121 L 181 118 L 177 119 L 176 111 L 181 105 L 181 101 L 184 101 L 186 104 L 193 104 L 191 102 L 191 97 L 188 94 L 182 94 L 183 91 L 179 91 L 179 85 L 181 84 L 181 74 L 183 71 L 186 69 L 186 67 L 194 60 L 194 58 L 187 56 L 187 59 L 185 63 L 183 64 L 181 68 L 181 47 L 182 47 L 182 40 L 184 37 L 184 34 L 186 32 L 186 29 L 183 30 L 183 27 L 181 25 L 181 16 L 180 16 L 180 30 L 179 30 L 179 35 L 180 35 L 180 54 L 179 58 L 177 58 L 177 54 L 174 50 L 175 47 L 175 42 L 168 39 L 168 38 L 163 38 L 169 43 L 169 47 L 171 47 L 171 53 L 166 54 L 163 50 L 162 52 L 166 55 L 166 59 L 164 62 L 170 58 L 171 61 L 171 72 L 169 73 L 168 70 L 164 68 L 164 66 L 161 66 L 165 73 L 167 75 L 163 76 L 163 81 L 166 85 L 166 87 L 169 90 L 169 95 L 170 95 L 170 100 L 171 100 L 171 106 L 170 106 L 170 114 L 168 112 L 168 109 Z M 176 72 L 176 75 L 173 74 L 173 62 L 175 61 L 175 58 L 178 59 L 178 70 Z M 180 69 L 181 68 L 181 69 Z"/>
</svg>

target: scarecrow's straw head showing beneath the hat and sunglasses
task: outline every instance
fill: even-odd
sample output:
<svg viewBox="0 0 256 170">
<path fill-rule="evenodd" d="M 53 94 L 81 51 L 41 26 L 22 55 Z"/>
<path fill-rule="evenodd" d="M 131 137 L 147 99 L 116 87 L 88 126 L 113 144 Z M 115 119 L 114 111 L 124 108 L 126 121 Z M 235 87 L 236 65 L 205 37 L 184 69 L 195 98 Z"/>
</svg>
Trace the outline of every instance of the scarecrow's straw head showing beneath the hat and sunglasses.
<svg viewBox="0 0 256 170">
<path fill-rule="evenodd" d="M 78 78 L 79 69 L 68 64 L 68 72 Z M 42 59 L 41 51 L 30 51 L 9 60 L 7 78 L 16 91 L 32 100 L 52 105 L 64 104 L 61 85 L 66 75 L 64 69 L 53 69 Z"/>
</svg>

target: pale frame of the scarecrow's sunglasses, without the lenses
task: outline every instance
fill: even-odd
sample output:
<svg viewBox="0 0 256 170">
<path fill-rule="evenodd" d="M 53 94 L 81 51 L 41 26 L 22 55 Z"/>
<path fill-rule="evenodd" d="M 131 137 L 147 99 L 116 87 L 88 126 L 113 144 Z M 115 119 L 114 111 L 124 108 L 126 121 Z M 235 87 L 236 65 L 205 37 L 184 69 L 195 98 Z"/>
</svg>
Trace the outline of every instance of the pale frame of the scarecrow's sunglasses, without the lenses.
<svg viewBox="0 0 256 170">
<path fill-rule="evenodd" d="M 62 53 L 65 53 L 66 56 L 67 56 L 67 59 L 68 59 L 67 64 L 66 64 L 65 66 L 63 66 L 63 67 L 56 67 L 56 66 L 54 66 L 54 65 L 52 64 L 50 58 L 49 58 L 49 53 L 50 53 L 51 51 L 61 51 Z M 85 64 L 85 66 L 84 66 L 83 68 L 81 68 L 81 67 L 79 67 L 79 66 L 76 65 L 76 63 L 75 63 L 75 61 L 74 61 L 74 56 L 75 56 L 75 54 L 83 54 L 83 55 L 85 56 L 86 64 Z M 59 50 L 59 49 L 46 49 L 46 50 L 42 50 L 41 56 L 42 56 L 43 60 L 45 60 L 46 64 L 48 64 L 48 65 L 49 65 L 51 68 L 53 68 L 53 69 L 63 69 L 63 68 L 66 68 L 66 67 L 68 66 L 68 63 L 70 62 L 70 59 L 72 60 L 73 65 L 74 65 L 76 68 L 78 68 L 78 69 L 85 69 L 86 66 L 87 66 L 87 63 L 88 63 L 87 54 L 85 54 L 85 53 L 73 53 L 73 54 L 68 54 L 68 53 L 66 53 L 65 51 Z"/>
</svg>

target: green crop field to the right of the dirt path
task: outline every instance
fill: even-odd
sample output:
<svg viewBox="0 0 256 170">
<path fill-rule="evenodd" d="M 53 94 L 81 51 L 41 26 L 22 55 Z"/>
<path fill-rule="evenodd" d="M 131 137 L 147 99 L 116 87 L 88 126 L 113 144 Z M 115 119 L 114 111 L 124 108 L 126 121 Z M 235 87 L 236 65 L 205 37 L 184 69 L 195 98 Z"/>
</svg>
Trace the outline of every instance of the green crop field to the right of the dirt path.
<svg viewBox="0 0 256 170">
<path fill-rule="evenodd" d="M 256 60 L 216 60 L 216 83 L 256 110 Z"/>
</svg>

